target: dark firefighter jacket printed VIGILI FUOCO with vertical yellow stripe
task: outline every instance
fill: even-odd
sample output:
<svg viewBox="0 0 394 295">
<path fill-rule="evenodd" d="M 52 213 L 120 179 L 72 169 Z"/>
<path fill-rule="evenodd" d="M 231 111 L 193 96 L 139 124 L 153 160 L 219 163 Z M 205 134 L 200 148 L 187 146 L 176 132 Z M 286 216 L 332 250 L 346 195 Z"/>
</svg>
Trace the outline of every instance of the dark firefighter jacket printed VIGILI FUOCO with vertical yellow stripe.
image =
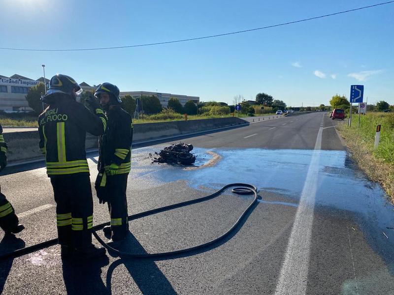
<svg viewBox="0 0 394 295">
<path fill-rule="evenodd" d="M 101 109 L 93 114 L 69 95 L 54 93 L 49 107 L 38 117 L 39 147 L 46 156 L 47 174 L 89 174 L 86 160 L 86 132 L 102 135 L 106 117 Z"/>
</svg>

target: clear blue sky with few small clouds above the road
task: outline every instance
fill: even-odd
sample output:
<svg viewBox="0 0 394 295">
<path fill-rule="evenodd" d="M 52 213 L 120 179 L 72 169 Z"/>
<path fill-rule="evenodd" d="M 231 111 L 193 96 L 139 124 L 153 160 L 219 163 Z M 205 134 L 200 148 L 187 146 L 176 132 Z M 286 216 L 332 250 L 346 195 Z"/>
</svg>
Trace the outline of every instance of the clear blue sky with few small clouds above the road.
<svg viewBox="0 0 394 295">
<path fill-rule="evenodd" d="M 383 1 L 383 0 L 381 0 Z M 0 47 L 122 46 L 252 29 L 379 0 L 1 0 Z M 394 3 L 314 21 L 184 43 L 85 52 L 0 50 L 0 75 L 56 73 L 121 91 L 232 103 L 271 94 L 288 105 L 328 104 L 364 85 L 394 104 Z"/>
</svg>

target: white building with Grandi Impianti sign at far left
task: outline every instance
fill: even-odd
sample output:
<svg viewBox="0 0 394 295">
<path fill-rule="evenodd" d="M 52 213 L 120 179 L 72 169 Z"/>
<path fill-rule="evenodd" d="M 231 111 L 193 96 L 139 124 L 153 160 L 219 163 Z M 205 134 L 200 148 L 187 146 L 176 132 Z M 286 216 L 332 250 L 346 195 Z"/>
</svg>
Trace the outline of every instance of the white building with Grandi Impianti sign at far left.
<svg viewBox="0 0 394 295">
<path fill-rule="evenodd" d="M 26 100 L 26 94 L 31 87 L 43 81 L 43 77 L 33 80 L 18 74 L 11 77 L 0 75 L 0 110 L 14 112 L 32 111 Z M 45 79 L 45 81 L 47 87 L 49 87 L 49 80 Z"/>
</svg>

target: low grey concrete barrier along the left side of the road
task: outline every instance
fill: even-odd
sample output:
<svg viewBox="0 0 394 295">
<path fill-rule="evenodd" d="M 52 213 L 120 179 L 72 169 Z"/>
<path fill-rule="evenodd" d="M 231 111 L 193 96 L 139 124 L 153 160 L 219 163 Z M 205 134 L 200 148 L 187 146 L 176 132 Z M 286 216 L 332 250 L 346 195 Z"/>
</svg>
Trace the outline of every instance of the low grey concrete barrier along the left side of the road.
<svg viewBox="0 0 394 295">
<path fill-rule="evenodd" d="M 249 122 L 240 118 L 217 118 L 135 124 L 133 142 L 175 135 L 187 135 L 247 123 Z M 8 144 L 8 162 L 34 160 L 43 157 L 38 148 L 38 131 L 8 132 L 4 133 L 3 136 Z M 86 149 L 97 148 L 98 137 L 87 134 L 85 146 Z"/>
</svg>

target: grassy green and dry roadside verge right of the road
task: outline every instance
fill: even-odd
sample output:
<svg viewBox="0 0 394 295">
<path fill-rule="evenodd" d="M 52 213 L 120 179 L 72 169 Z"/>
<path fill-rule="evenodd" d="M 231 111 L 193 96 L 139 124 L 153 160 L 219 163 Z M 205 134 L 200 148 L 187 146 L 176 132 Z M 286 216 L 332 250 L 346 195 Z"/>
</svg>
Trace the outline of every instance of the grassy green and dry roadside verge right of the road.
<svg viewBox="0 0 394 295">
<path fill-rule="evenodd" d="M 352 116 L 351 128 L 342 123 L 337 129 L 358 166 L 382 184 L 394 203 L 394 114 L 371 112 L 361 116 L 360 128 L 357 123 L 358 116 Z M 381 125 L 380 144 L 374 149 L 377 125 Z"/>
</svg>

